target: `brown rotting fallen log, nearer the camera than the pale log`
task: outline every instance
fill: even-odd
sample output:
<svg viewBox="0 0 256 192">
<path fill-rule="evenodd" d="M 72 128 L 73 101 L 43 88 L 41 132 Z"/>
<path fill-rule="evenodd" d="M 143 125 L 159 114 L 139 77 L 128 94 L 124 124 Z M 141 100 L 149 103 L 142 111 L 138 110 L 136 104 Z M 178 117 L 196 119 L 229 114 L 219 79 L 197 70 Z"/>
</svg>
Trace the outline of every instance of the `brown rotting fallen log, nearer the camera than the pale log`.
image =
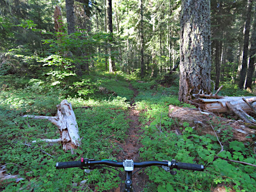
<svg viewBox="0 0 256 192">
<path fill-rule="evenodd" d="M 176 119 L 178 126 L 183 125 L 183 122 L 188 122 L 190 127 L 195 127 L 194 130 L 196 130 L 199 135 L 210 134 L 215 136 L 212 126 L 220 123 L 222 125 L 221 128 L 216 130 L 218 137 L 221 136 L 222 131 L 231 128 L 231 131 L 233 132 L 233 140 L 252 142 L 251 138 L 245 137 L 256 133 L 254 129 L 250 129 L 247 125 L 240 124 L 238 121 L 217 117 L 214 114 L 202 112 L 199 109 L 180 108 L 174 105 L 169 105 L 169 117 Z"/>
</svg>

